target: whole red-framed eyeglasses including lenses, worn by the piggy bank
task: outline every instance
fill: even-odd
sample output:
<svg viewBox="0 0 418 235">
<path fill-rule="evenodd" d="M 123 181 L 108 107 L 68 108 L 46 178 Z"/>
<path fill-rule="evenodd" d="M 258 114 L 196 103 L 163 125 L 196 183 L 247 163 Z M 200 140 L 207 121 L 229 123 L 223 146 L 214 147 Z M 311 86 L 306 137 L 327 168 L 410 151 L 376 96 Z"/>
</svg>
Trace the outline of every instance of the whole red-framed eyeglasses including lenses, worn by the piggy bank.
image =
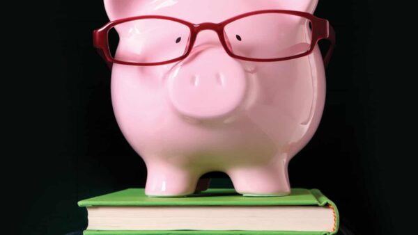
<svg viewBox="0 0 418 235">
<path fill-rule="evenodd" d="M 329 40 L 325 67 L 335 45 L 326 19 L 293 10 L 260 10 L 219 24 L 144 15 L 109 22 L 93 32 L 93 44 L 109 67 L 165 65 L 189 56 L 199 32 L 215 31 L 226 53 L 240 60 L 273 62 L 311 54 L 319 40 Z"/>
</svg>

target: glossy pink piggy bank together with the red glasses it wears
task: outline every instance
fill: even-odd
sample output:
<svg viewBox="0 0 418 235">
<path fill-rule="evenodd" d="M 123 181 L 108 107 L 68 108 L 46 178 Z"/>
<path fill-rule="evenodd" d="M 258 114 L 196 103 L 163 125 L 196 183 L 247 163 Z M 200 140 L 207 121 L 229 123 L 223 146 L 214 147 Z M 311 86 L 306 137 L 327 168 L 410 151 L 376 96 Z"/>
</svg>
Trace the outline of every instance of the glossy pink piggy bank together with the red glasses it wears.
<svg viewBox="0 0 418 235">
<path fill-rule="evenodd" d="M 146 163 L 146 195 L 205 190 L 213 171 L 242 195 L 291 193 L 288 163 L 325 103 L 330 52 L 324 63 L 317 42 L 333 34 L 311 15 L 317 2 L 104 0 L 111 22 L 94 43 L 118 125 Z"/>
</svg>

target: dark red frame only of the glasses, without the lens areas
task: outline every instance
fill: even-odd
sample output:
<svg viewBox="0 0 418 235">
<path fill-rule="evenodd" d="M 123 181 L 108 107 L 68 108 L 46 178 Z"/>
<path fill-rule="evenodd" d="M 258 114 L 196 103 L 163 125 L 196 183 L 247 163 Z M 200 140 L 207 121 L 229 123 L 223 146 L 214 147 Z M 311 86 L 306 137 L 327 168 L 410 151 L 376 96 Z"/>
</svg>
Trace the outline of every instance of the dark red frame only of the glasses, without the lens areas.
<svg viewBox="0 0 418 235">
<path fill-rule="evenodd" d="M 284 58 L 270 58 L 270 59 L 247 58 L 245 56 L 237 56 L 233 54 L 233 52 L 229 49 L 228 45 L 226 44 L 226 38 L 224 35 L 225 26 L 230 24 L 231 22 L 237 21 L 238 19 L 242 19 L 242 18 L 249 17 L 252 15 L 261 15 L 261 14 L 268 14 L 268 13 L 295 15 L 295 16 L 309 19 L 309 21 L 311 22 L 311 31 L 312 31 L 311 47 L 309 48 L 309 50 L 302 54 L 297 54 L 294 56 L 287 56 Z M 188 26 L 190 29 L 190 39 L 189 39 L 189 44 L 187 46 L 186 53 L 183 56 L 180 56 L 178 58 L 174 58 L 174 59 L 166 60 L 162 62 L 157 62 L 157 63 L 134 63 L 134 62 L 116 60 L 115 58 L 113 58 L 111 56 L 111 52 L 109 49 L 109 40 L 108 40 L 109 31 L 118 24 L 130 22 L 130 21 L 134 21 L 138 19 L 166 19 L 166 20 L 178 22 L 180 24 L 184 24 L 185 26 Z M 111 68 L 114 63 L 122 64 L 122 65 L 136 65 L 136 66 L 167 65 L 169 63 L 175 63 L 177 61 L 184 60 L 185 58 L 187 58 L 187 56 L 189 56 L 189 54 L 192 52 L 194 43 L 196 42 L 197 35 L 199 34 L 199 32 L 204 31 L 204 30 L 215 31 L 219 37 L 219 41 L 221 42 L 222 47 L 224 47 L 226 51 L 226 54 L 228 54 L 232 58 L 237 58 L 240 60 L 247 60 L 247 61 L 254 61 L 254 62 L 276 62 L 276 61 L 291 60 L 294 58 L 307 56 L 311 54 L 312 51 L 314 51 L 316 44 L 320 40 L 325 39 L 325 40 L 330 41 L 330 47 L 328 51 L 326 52 L 325 57 L 323 58 L 325 67 L 327 67 L 328 63 L 330 63 L 332 52 L 334 51 L 334 47 L 335 47 L 335 32 L 330 22 L 327 21 L 327 19 L 322 19 L 314 15 L 311 15 L 310 13 L 305 13 L 305 12 L 295 11 L 295 10 L 257 10 L 257 11 L 237 15 L 230 19 L 226 19 L 224 22 L 220 22 L 218 24 L 208 23 L 208 22 L 201 23 L 201 24 L 192 24 L 183 19 L 178 19 L 175 17 L 168 17 L 164 15 L 141 15 L 141 16 L 136 16 L 136 17 L 127 17 L 123 19 L 116 19 L 114 21 L 111 21 L 105 24 L 100 29 L 95 29 L 93 31 L 93 46 L 95 47 L 95 49 L 97 49 L 98 54 L 102 56 L 102 58 L 107 63 L 109 68 Z"/>
</svg>

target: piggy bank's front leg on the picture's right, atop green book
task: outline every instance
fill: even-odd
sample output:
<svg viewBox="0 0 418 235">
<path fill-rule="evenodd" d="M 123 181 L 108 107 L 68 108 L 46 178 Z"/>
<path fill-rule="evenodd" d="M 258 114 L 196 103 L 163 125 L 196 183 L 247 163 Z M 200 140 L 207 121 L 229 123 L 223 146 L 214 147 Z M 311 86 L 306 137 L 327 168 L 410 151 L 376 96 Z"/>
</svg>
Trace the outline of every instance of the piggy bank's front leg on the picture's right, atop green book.
<svg viewBox="0 0 418 235">
<path fill-rule="evenodd" d="M 288 161 L 274 159 L 267 165 L 245 166 L 226 172 L 235 191 L 245 196 L 284 196 L 291 193 L 287 172 Z"/>
</svg>

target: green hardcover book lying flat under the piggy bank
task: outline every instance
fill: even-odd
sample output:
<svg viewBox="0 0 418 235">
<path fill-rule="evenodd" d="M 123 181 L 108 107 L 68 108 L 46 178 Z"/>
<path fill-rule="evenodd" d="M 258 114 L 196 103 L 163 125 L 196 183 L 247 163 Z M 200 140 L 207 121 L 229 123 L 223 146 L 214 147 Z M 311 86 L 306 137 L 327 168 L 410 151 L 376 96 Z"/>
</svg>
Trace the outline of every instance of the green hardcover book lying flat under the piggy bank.
<svg viewBox="0 0 418 235">
<path fill-rule="evenodd" d="M 336 234 L 339 213 L 318 189 L 283 197 L 244 197 L 210 188 L 188 197 L 148 197 L 130 188 L 88 200 L 84 235 Z"/>
</svg>

